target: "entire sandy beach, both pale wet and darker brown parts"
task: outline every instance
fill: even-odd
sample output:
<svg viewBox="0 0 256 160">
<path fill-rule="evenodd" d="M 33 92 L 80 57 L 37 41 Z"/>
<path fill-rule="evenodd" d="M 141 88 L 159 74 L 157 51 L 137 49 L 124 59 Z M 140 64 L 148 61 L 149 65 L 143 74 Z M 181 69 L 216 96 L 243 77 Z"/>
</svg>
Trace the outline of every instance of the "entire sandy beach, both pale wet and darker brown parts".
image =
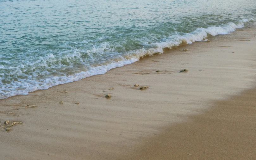
<svg viewBox="0 0 256 160">
<path fill-rule="evenodd" d="M 256 28 L 209 40 L 0 100 L 0 159 L 255 159 Z"/>
</svg>

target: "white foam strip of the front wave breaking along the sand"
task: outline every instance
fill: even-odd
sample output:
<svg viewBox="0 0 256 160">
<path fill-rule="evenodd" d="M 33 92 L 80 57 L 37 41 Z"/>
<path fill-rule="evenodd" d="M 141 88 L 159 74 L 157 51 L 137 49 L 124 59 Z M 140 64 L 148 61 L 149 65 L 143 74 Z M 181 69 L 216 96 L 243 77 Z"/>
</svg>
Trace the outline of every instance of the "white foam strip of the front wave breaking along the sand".
<svg viewBox="0 0 256 160">
<path fill-rule="evenodd" d="M 253 22 L 254 19 L 253 18 L 250 18 L 249 20 L 243 19 L 237 22 L 237 24 L 230 22 L 226 25 L 218 26 L 218 27 L 197 28 L 195 31 L 185 35 L 172 35 L 172 36 L 169 36 L 168 39 L 166 39 L 163 42 L 150 44 L 155 48 L 130 51 L 129 52 L 130 55 L 128 55 L 129 58 L 123 58 L 123 60 L 120 60 L 118 62 L 112 62 L 111 64 L 108 64 L 108 65 L 93 67 L 86 72 L 82 71 L 69 76 L 50 77 L 44 80 L 43 82 L 38 82 L 35 80 L 26 80 L 25 83 L 21 83 L 21 82 L 12 83 L 12 85 L 20 86 L 21 88 L 20 90 L 12 88 L 11 91 L 9 92 L 3 92 L 3 90 L 5 90 L 6 88 L 8 89 L 10 88 L 9 86 L 5 86 L 5 87 L 2 86 L 0 90 L 0 99 L 8 98 L 10 96 L 15 96 L 15 95 L 28 95 L 29 92 L 33 92 L 36 90 L 48 89 L 50 87 L 53 87 L 59 84 L 71 83 L 74 81 L 84 79 L 86 77 L 104 74 L 107 71 L 114 69 L 116 67 L 122 67 L 124 65 L 132 64 L 138 61 L 140 57 L 143 57 L 146 55 L 153 55 L 155 53 L 163 53 L 164 48 L 171 49 L 172 46 L 178 46 L 183 41 L 185 41 L 187 44 L 192 44 L 195 41 L 202 41 L 206 39 L 207 34 L 210 34 L 212 36 L 216 36 L 219 34 L 229 34 L 230 32 L 233 32 L 237 28 L 243 28 L 244 23 L 249 21 Z"/>
</svg>

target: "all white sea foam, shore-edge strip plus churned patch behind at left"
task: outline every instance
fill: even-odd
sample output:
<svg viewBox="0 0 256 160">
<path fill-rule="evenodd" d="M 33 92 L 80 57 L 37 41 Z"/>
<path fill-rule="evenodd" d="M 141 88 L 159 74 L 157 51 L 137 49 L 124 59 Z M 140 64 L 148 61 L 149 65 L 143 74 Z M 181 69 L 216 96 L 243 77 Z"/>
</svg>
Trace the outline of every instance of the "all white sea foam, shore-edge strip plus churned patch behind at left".
<svg viewBox="0 0 256 160">
<path fill-rule="evenodd" d="M 145 46 L 149 46 L 148 49 L 139 49 L 135 51 L 129 51 L 125 55 L 119 57 L 118 61 L 111 61 L 111 63 L 106 65 L 100 65 L 96 67 L 91 67 L 88 71 L 82 71 L 73 75 L 65 75 L 64 76 L 51 76 L 44 80 L 34 80 L 32 77 L 36 77 L 43 74 L 49 74 L 48 70 L 51 70 L 53 68 L 56 68 L 56 66 L 65 66 L 61 63 L 61 61 L 66 61 L 69 63 L 72 59 L 76 58 L 77 60 L 83 62 L 83 59 L 81 58 L 80 52 L 85 52 L 90 57 L 91 61 L 94 61 L 94 57 L 90 56 L 90 54 L 104 54 L 106 50 L 111 50 L 110 45 L 108 43 L 101 43 L 101 46 L 96 47 L 93 46 L 91 50 L 87 51 L 81 51 L 76 48 L 72 48 L 72 51 L 66 51 L 62 52 L 61 56 L 59 58 L 56 58 L 53 54 L 48 54 L 44 58 L 39 58 L 37 61 L 33 63 L 27 63 L 25 65 L 19 65 L 17 67 L 9 67 L 9 75 L 22 75 L 24 71 L 27 70 L 28 67 L 31 67 L 32 70 L 34 70 L 34 74 L 27 76 L 28 78 L 19 79 L 19 81 L 11 82 L 11 83 L 3 83 L 2 78 L 0 77 L 0 99 L 8 98 L 10 96 L 14 95 L 28 95 L 29 92 L 33 92 L 35 90 L 40 89 L 48 89 L 49 87 L 56 86 L 59 84 L 64 83 L 71 83 L 74 81 L 81 80 L 85 77 L 90 77 L 94 75 L 104 74 L 110 69 L 116 68 L 116 67 L 122 67 L 123 65 L 132 64 L 139 60 L 140 57 L 146 56 L 146 55 L 153 55 L 155 53 L 163 53 L 164 48 L 171 49 L 173 46 L 178 46 L 182 42 L 186 42 L 187 44 L 191 44 L 195 41 L 202 41 L 207 38 L 207 35 L 219 35 L 219 34 L 229 34 L 230 32 L 233 32 L 237 28 L 244 27 L 246 22 L 253 22 L 254 19 L 243 19 L 240 20 L 237 23 L 230 22 L 226 25 L 222 26 L 213 26 L 209 28 L 197 28 L 195 31 L 184 34 L 184 35 L 171 35 L 169 37 L 166 37 L 161 42 L 158 43 L 151 43 L 149 44 L 147 41 L 144 41 L 142 44 Z M 103 40 L 104 38 L 109 37 L 101 37 L 98 40 Z M 82 43 L 87 43 L 86 41 L 83 41 Z M 50 65 L 49 64 L 57 64 L 57 65 Z M 38 64 L 38 65 L 36 65 Z M 82 63 L 84 65 L 88 65 L 86 63 Z M 37 67 L 46 67 L 48 70 L 39 71 Z M 0 66 L 0 69 L 7 69 L 3 65 Z M 62 68 L 63 69 L 63 68 Z M 66 69 L 64 67 L 64 69 Z M 8 75 L 7 75 L 8 76 Z"/>
</svg>

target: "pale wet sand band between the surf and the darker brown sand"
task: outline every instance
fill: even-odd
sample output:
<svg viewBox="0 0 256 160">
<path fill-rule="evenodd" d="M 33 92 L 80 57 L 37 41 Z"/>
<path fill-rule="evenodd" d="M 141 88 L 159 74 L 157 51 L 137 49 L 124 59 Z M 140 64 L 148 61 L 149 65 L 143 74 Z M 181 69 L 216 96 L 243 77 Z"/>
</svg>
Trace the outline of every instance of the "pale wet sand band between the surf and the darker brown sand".
<svg viewBox="0 0 256 160">
<path fill-rule="evenodd" d="M 1 99 L 1 123 L 23 124 L 0 132 L 0 153 L 6 159 L 133 155 L 166 126 L 190 122 L 189 116 L 201 114 L 209 103 L 255 87 L 255 37 L 255 27 L 237 29 L 103 75 Z M 184 48 L 188 51 L 180 51 Z M 182 69 L 189 71 L 178 73 Z M 104 98 L 107 93 L 112 97 Z"/>
</svg>

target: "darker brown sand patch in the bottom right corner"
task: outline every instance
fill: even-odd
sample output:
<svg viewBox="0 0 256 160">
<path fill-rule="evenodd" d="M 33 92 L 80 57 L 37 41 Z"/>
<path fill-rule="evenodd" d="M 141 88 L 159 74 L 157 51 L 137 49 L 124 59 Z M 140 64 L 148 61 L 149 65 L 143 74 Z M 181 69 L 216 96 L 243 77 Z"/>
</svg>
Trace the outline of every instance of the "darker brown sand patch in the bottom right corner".
<svg viewBox="0 0 256 160">
<path fill-rule="evenodd" d="M 120 159 L 256 159 L 256 88 L 208 107 Z"/>
</svg>

